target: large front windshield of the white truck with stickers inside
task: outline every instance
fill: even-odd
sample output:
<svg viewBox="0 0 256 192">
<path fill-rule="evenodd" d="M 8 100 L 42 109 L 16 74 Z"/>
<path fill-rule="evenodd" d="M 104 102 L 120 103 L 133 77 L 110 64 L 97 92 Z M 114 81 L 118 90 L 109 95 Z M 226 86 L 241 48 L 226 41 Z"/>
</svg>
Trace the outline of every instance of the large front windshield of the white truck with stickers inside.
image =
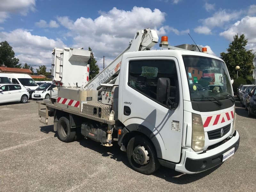
<svg viewBox="0 0 256 192">
<path fill-rule="evenodd" d="M 232 95 L 228 70 L 223 61 L 183 56 L 191 101 L 224 100 Z"/>
</svg>

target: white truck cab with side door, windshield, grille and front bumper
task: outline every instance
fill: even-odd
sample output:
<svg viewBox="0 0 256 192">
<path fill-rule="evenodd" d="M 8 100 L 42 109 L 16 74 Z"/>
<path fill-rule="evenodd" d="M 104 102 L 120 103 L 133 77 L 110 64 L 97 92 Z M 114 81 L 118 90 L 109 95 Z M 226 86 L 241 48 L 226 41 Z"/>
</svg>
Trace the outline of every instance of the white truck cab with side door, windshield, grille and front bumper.
<svg viewBox="0 0 256 192">
<path fill-rule="evenodd" d="M 200 80 L 202 71 L 212 67 L 224 79 L 221 90 Z M 125 148 L 129 134 L 146 135 L 160 164 L 185 173 L 216 166 L 225 152 L 238 148 L 235 100 L 220 58 L 185 50 L 129 52 L 123 55 L 120 77 L 118 120 L 126 131 L 119 143 Z M 140 164 L 136 156 L 128 159 Z"/>
</svg>

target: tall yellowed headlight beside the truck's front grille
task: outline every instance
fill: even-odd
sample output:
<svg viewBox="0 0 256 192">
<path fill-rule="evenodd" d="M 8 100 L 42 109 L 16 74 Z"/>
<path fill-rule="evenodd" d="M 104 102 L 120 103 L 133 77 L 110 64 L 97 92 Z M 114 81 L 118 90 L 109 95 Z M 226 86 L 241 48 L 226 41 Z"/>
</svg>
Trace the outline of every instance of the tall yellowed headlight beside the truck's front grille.
<svg viewBox="0 0 256 192">
<path fill-rule="evenodd" d="M 192 113 L 192 143 L 191 148 L 194 151 L 204 149 L 204 125 L 202 117 Z"/>
</svg>

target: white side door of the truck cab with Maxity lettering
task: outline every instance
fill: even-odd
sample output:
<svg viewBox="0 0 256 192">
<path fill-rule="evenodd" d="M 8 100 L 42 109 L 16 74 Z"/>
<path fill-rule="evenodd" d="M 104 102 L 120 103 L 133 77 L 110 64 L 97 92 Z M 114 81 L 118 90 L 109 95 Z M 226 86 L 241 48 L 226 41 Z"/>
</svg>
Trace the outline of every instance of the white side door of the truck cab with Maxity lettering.
<svg viewBox="0 0 256 192">
<path fill-rule="evenodd" d="M 128 58 L 124 65 L 123 81 L 119 82 L 122 88 L 122 93 L 119 91 L 119 97 L 122 94 L 122 123 L 129 131 L 146 134 L 154 143 L 158 158 L 179 162 L 183 97 L 179 88 L 181 79 L 177 59 Z M 165 102 L 157 100 L 157 80 L 160 77 L 170 79 L 169 99 L 177 103 L 177 108 L 170 110 Z"/>
</svg>

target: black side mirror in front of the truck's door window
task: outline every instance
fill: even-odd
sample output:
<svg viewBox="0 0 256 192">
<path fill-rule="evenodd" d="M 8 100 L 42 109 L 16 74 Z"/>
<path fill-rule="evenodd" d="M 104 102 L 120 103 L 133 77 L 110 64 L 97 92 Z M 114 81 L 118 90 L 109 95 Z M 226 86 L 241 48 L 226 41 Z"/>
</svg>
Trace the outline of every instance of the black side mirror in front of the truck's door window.
<svg viewBox="0 0 256 192">
<path fill-rule="evenodd" d="M 157 80 L 156 98 L 159 101 L 167 101 L 170 94 L 170 78 L 159 78 Z"/>
</svg>

